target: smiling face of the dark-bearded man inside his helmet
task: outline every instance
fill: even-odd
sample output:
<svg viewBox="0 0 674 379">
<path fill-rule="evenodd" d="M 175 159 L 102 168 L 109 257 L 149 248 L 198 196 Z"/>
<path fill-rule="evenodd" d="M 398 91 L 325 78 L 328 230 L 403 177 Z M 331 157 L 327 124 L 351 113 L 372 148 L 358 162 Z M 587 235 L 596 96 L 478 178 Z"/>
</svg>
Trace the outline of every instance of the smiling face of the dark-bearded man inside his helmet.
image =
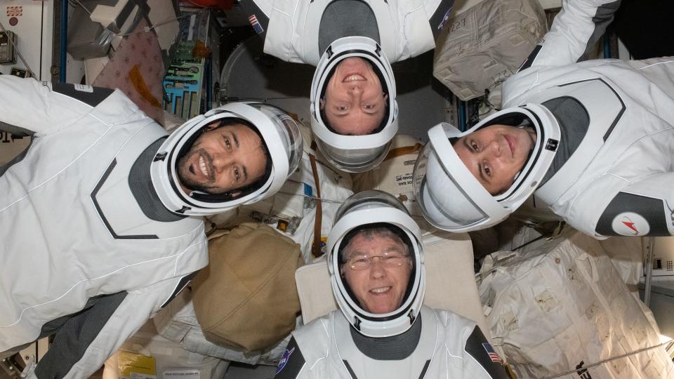
<svg viewBox="0 0 674 379">
<path fill-rule="evenodd" d="M 178 161 L 178 178 L 193 190 L 220 194 L 251 185 L 265 173 L 266 152 L 260 136 L 243 124 L 206 126 L 190 151 Z M 230 192 L 237 196 L 240 192 Z"/>
</svg>

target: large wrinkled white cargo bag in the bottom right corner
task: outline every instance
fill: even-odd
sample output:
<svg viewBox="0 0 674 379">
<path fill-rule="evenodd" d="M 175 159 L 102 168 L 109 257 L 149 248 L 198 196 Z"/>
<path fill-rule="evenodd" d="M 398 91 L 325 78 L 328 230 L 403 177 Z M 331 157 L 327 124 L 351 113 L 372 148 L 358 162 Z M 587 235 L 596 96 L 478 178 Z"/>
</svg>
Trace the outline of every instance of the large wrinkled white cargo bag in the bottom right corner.
<svg viewBox="0 0 674 379">
<path fill-rule="evenodd" d="M 674 378 L 664 347 L 645 350 L 658 327 L 592 237 L 569 229 L 535 251 L 499 251 L 481 275 L 491 339 L 518 378 Z"/>
</svg>

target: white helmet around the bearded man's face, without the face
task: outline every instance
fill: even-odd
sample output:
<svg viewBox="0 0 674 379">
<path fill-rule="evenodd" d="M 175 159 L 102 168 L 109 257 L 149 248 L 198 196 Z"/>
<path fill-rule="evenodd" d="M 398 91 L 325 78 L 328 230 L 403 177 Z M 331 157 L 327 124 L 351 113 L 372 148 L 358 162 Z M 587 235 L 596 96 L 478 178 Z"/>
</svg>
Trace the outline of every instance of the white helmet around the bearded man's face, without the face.
<svg viewBox="0 0 674 379">
<path fill-rule="evenodd" d="M 237 188 L 236 195 L 199 190 L 187 193 L 181 186 L 178 162 L 216 121 L 247 126 L 260 137 L 266 150 L 265 173 L 252 185 Z M 296 171 L 302 157 L 302 144 L 298 124 L 282 109 L 259 102 L 230 102 L 188 120 L 166 138 L 152 161 L 152 184 L 162 204 L 174 213 L 221 213 L 275 194 Z"/>
</svg>

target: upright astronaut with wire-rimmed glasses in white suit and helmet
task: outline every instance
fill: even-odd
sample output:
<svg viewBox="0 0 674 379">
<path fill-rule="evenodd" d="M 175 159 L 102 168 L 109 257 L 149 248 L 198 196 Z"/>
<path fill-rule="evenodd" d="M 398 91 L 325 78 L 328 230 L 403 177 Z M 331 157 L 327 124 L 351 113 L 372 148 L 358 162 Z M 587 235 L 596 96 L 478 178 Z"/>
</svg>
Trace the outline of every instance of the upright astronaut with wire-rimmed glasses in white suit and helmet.
<svg viewBox="0 0 674 379">
<path fill-rule="evenodd" d="M 345 201 L 327 254 L 340 310 L 293 331 L 275 378 L 507 378 L 475 322 L 422 305 L 420 234 L 386 192 Z"/>
</svg>

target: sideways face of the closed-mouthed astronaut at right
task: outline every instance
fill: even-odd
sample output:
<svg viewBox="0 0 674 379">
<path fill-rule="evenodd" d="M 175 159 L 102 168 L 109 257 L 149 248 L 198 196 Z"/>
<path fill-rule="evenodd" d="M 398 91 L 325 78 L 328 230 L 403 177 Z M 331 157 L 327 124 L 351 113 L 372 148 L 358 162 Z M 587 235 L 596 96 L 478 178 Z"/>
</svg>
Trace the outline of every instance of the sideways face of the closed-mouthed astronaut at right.
<svg viewBox="0 0 674 379">
<path fill-rule="evenodd" d="M 454 151 L 490 194 L 513 184 L 536 142 L 532 128 L 491 125 L 454 142 Z"/>
</svg>

